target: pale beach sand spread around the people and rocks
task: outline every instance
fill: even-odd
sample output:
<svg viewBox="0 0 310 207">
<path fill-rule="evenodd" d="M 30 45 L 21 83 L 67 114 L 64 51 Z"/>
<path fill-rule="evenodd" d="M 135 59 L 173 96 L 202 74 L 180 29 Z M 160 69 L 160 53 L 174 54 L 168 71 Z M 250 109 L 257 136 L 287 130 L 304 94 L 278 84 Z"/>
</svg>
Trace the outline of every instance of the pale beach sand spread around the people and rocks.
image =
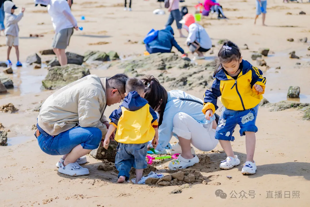
<svg viewBox="0 0 310 207">
<path fill-rule="evenodd" d="M 21 61 L 34 52 L 50 48 L 53 28 L 46 8 L 34 7 L 32 0 L 15 0 L 18 7 L 26 7 L 24 18 L 20 21 Z M 194 11 L 194 0 L 186 0 L 181 5 Z M 242 50 L 244 59 L 250 60 L 250 51 L 259 47 L 269 47 L 274 54 L 264 58 L 271 69 L 264 70 L 267 77 L 266 97 L 273 101 L 285 99 L 290 85 L 301 88 L 301 101 L 309 102 L 310 54 L 308 44 L 300 43 L 299 38 L 310 38 L 310 4 L 289 3 L 268 0 L 266 24 L 261 26 L 261 19 L 253 25 L 255 17 L 254 0 L 221 0 L 225 15 L 229 20 L 215 20 L 209 17 L 203 24 L 216 45 L 219 39 L 227 38 L 239 46 L 247 44 L 249 50 Z M 133 11 L 124 12 L 122 1 L 98 0 L 93 2 L 75 1 L 73 14 L 78 19 L 83 31 L 75 32 L 68 51 L 83 54 L 86 50 L 115 50 L 121 55 L 142 54 L 144 45 L 126 44 L 141 41 L 151 29 L 162 29 L 168 14 L 154 16 L 152 11 L 159 7 L 155 0 L 133 1 Z M 298 15 L 305 11 L 306 15 Z M 287 12 L 292 15 L 286 15 Z M 84 15 L 86 20 L 79 20 Z M 215 15 L 213 16 L 215 18 Z M 44 24 L 43 24 L 44 23 Z M 292 26 L 292 27 L 291 27 Z M 175 23 L 173 28 L 176 29 Z M 184 31 L 185 33 L 185 31 Z M 29 34 L 43 34 L 44 37 L 29 38 Z M 178 36 L 178 35 L 176 35 Z M 287 42 L 294 38 L 294 42 Z M 184 38 L 176 38 L 184 47 Z M 107 42 L 103 44 L 100 42 Z M 5 38 L 0 37 L 0 44 Z M 219 46 L 213 48 L 215 54 Z M 301 59 L 289 59 L 288 53 L 295 50 Z M 0 47 L 2 61 L 6 59 L 6 47 Z M 307 59 L 308 58 L 308 59 Z M 16 62 L 14 49 L 11 60 Z M 301 65 L 296 66 L 296 62 Z M 281 66 L 280 70 L 274 68 Z M 91 74 L 111 76 L 123 70 L 91 70 Z M 33 136 L 32 125 L 36 124 L 38 112 L 32 111 L 54 91 L 41 91 L 41 81 L 47 70 L 32 67 L 14 68 L 10 75 L 15 87 L 9 94 L 0 96 L 0 105 L 13 103 L 17 113 L 0 112 L 0 123 L 10 129 L 9 146 L 1 147 L 0 159 L 0 205 L 1 206 L 309 206 L 308 197 L 310 180 L 310 122 L 301 120 L 303 113 L 297 110 L 269 112 L 261 107 L 257 119 L 259 132 L 256 134 L 255 161 L 258 166 L 255 175 L 241 174 L 242 165 L 231 170 L 219 170 L 219 163 L 225 159 L 223 149 L 218 145 L 214 151 L 207 152 L 210 163 L 203 162 L 193 166 L 201 172 L 208 185 L 193 183 L 184 188 L 180 194 L 169 194 L 176 186 L 158 187 L 134 184 L 116 184 L 117 174 L 113 171 L 97 170 L 101 164 L 87 155 L 88 163 L 84 166 L 90 170 L 89 176 L 69 177 L 57 173 L 55 163 L 58 156 L 44 154 Z M 188 93 L 201 97 L 205 89 L 191 90 Z M 109 115 L 117 106 L 108 107 Z M 235 153 L 243 164 L 246 160 L 245 138 L 239 137 L 236 128 L 235 141 L 232 143 Z M 171 140 L 171 143 L 176 140 Z M 196 151 L 197 154 L 204 152 Z M 201 156 L 201 155 L 200 155 Z M 168 160 L 157 164 L 160 172 L 166 173 Z M 160 166 L 161 165 L 161 166 Z M 228 179 L 226 176 L 231 176 Z M 220 185 L 216 185 L 219 184 Z M 215 191 L 221 189 L 228 196 L 226 199 L 216 197 Z M 240 197 L 244 191 L 245 197 Z M 249 191 L 255 191 L 255 198 L 250 198 Z M 267 191 L 272 191 L 273 198 L 266 198 Z M 275 198 L 275 191 L 282 191 L 282 198 Z M 285 192 L 287 191 L 287 192 Z M 290 192 L 290 198 L 285 194 Z M 293 198 L 293 191 L 299 192 L 299 198 Z M 232 193 L 237 193 L 237 198 Z M 243 194 L 243 193 L 241 193 Z M 239 198 L 240 197 L 240 198 Z"/>
</svg>

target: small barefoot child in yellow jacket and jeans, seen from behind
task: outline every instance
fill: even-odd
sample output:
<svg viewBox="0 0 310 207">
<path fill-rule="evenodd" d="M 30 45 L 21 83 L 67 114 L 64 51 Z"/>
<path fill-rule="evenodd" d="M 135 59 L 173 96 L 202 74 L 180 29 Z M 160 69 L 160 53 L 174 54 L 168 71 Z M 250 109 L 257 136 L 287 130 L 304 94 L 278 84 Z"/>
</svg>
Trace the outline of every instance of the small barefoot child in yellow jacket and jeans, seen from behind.
<svg viewBox="0 0 310 207">
<path fill-rule="evenodd" d="M 115 141 L 118 142 L 115 167 L 119 171 L 118 183 L 129 179 L 131 167 L 136 171 L 136 183 L 142 178 L 147 167 L 148 142 L 158 144 L 157 114 L 143 97 L 145 86 L 137 78 L 126 83 L 126 97 L 117 110 L 110 115 L 110 127 L 105 135 L 104 148 L 108 149 L 110 136 L 117 128 Z"/>
</svg>

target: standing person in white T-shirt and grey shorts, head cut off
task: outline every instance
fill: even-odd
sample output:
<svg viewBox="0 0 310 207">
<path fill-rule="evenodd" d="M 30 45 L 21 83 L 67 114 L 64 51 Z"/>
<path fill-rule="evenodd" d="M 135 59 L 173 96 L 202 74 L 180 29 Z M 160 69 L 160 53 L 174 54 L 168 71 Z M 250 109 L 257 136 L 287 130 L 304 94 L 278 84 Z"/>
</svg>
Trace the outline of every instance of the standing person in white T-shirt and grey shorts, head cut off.
<svg viewBox="0 0 310 207">
<path fill-rule="evenodd" d="M 78 30 L 77 20 L 72 15 L 68 2 L 66 0 L 34 0 L 34 2 L 36 6 L 38 4 L 47 6 L 55 29 L 53 50 L 60 65 L 67 65 L 65 49 L 69 45 L 73 29 Z"/>
</svg>

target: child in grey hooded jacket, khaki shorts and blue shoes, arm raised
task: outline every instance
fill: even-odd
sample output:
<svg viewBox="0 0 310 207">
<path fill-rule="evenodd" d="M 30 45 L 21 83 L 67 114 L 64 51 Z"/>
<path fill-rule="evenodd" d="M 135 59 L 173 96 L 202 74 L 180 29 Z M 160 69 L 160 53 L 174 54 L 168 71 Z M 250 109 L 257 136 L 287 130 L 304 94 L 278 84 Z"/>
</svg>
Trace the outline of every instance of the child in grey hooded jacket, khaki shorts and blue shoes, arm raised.
<svg viewBox="0 0 310 207">
<path fill-rule="evenodd" d="M 19 49 L 18 49 L 18 33 L 19 33 L 19 27 L 18 22 L 21 20 L 21 18 L 24 16 L 25 8 L 22 8 L 20 11 L 20 14 L 15 15 L 14 11 L 17 9 L 15 4 L 11 1 L 5 1 L 3 3 L 3 8 L 5 11 L 5 20 L 6 20 L 6 26 L 4 33 L 6 35 L 7 40 L 7 65 L 12 65 L 12 62 L 10 61 L 10 53 L 12 46 L 14 45 L 16 56 L 17 56 L 17 63 L 16 66 L 22 66 L 22 64 L 19 61 Z"/>
</svg>

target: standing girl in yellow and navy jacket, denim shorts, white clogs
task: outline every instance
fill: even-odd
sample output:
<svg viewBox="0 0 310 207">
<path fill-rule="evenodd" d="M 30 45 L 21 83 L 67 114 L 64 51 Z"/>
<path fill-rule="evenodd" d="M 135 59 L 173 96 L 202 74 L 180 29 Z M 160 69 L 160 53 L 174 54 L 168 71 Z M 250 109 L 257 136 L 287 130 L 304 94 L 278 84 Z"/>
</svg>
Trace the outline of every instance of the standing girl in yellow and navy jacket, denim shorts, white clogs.
<svg viewBox="0 0 310 207">
<path fill-rule="evenodd" d="M 262 94 L 265 91 L 266 78 L 262 71 L 242 60 L 239 47 L 226 41 L 219 50 L 219 67 L 214 71 L 215 80 L 211 89 L 204 95 L 202 112 L 210 120 L 215 110 L 217 98 L 223 103 L 222 115 L 216 128 L 215 139 L 219 140 L 227 158 L 221 161 L 220 169 L 231 169 L 240 164 L 237 155 L 234 155 L 230 141 L 237 124 L 240 126 L 240 135 L 246 135 L 246 163 L 242 174 L 255 174 L 256 164 L 253 160 L 255 151 L 255 126 L 257 111 Z"/>
</svg>

